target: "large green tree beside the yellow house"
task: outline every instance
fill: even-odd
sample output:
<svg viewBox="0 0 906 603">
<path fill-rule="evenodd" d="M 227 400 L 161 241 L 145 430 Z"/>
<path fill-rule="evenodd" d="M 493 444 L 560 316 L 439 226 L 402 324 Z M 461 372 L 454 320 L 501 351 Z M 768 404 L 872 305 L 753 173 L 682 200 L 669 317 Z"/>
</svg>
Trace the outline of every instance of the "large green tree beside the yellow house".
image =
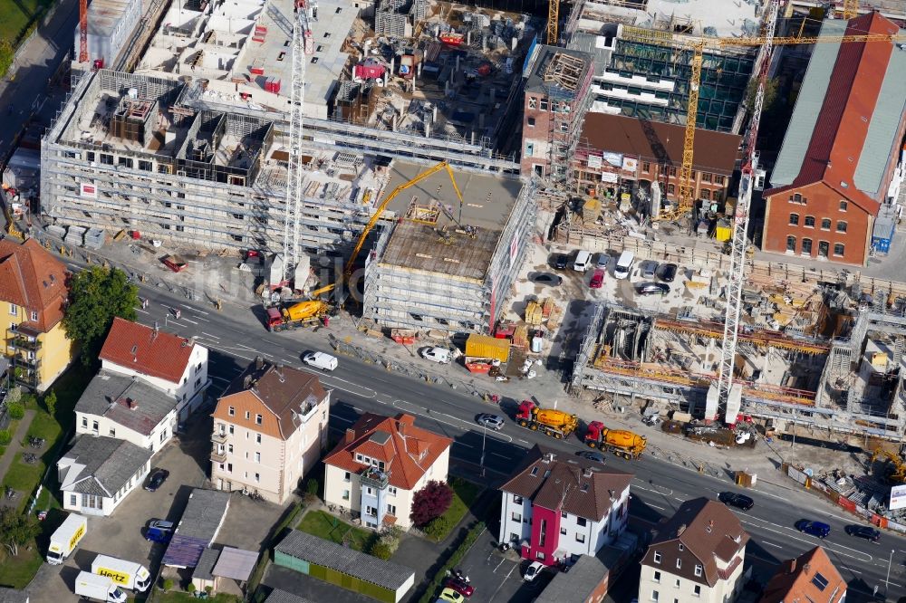
<svg viewBox="0 0 906 603">
<path fill-rule="evenodd" d="M 72 276 L 63 328 L 82 346 L 82 364 L 98 358 L 114 317 L 135 321 L 138 305 L 139 288 L 117 268 L 91 266 Z"/>
</svg>

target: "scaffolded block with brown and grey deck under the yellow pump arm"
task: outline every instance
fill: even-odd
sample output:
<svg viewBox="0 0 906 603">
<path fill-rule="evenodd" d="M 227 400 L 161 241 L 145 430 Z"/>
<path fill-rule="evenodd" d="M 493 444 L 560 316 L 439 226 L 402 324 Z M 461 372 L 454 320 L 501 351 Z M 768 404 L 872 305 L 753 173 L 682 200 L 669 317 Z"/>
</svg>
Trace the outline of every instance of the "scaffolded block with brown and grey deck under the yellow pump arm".
<svg viewBox="0 0 906 603">
<path fill-rule="evenodd" d="M 393 181 L 418 173 L 398 164 Z M 535 228 L 533 189 L 513 178 L 463 175 L 460 204 L 446 174 L 407 190 L 365 269 L 362 315 L 382 328 L 488 333 L 504 311 Z"/>
</svg>

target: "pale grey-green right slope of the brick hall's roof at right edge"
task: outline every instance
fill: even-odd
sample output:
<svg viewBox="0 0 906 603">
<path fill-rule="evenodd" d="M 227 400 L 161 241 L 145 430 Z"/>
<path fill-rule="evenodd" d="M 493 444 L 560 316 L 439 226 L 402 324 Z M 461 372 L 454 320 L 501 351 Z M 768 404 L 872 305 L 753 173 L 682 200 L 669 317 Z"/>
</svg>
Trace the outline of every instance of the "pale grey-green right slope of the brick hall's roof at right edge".
<svg viewBox="0 0 906 603">
<path fill-rule="evenodd" d="M 902 31 L 902 30 L 901 30 Z M 823 44 L 816 44 L 821 46 Z M 881 94 L 874 105 L 868 123 L 868 135 L 859 162 L 853 175 L 855 187 L 877 198 L 882 192 L 884 172 L 887 166 L 896 163 L 891 151 L 899 152 L 900 140 L 894 140 L 900 129 L 903 112 L 906 111 L 906 50 L 900 44 L 893 44 L 891 60 L 881 84 Z"/>
</svg>

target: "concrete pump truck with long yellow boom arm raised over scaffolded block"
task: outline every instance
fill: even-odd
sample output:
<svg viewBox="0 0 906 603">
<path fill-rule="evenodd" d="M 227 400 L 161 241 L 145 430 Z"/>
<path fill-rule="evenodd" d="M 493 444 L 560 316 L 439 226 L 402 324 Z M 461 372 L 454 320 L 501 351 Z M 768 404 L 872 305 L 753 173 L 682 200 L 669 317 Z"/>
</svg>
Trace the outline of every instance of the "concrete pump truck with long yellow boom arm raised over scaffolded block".
<svg viewBox="0 0 906 603">
<path fill-rule="evenodd" d="M 284 330 L 284 329 L 293 329 L 296 326 L 305 326 L 307 324 L 326 320 L 327 316 L 331 312 L 331 304 L 318 298 L 326 293 L 332 292 L 338 285 L 345 285 L 349 282 L 352 277 L 352 271 L 355 268 L 355 261 L 359 257 L 359 252 L 361 252 L 361 247 L 365 244 L 365 239 L 368 238 L 368 235 L 371 234 L 371 229 L 374 228 L 374 225 L 378 223 L 378 220 L 381 219 L 384 210 L 387 209 L 387 206 L 390 205 L 390 201 L 395 199 L 400 193 L 407 188 L 414 187 L 423 180 L 428 179 L 429 177 L 434 176 L 441 170 L 447 170 L 447 174 L 450 177 L 450 182 L 453 183 L 453 190 L 456 191 L 456 196 L 459 200 L 459 207 L 462 208 L 463 198 L 462 192 L 459 190 L 459 187 L 456 183 L 456 178 L 453 176 L 453 168 L 450 168 L 447 161 L 441 161 L 439 164 L 426 169 L 421 172 L 418 176 L 411 178 L 410 180 L 403 182 L 400 186 L 394 188 L 390 191 L 390 194 L 385 196 L 375 210 L 374 214 L 371 215 L 371 219 L 368 221 L 368 224 L 365 225 L 364 230 L 361 231 L 359 235 L 359 240 L 355 244 L 355 248 L 352 250 L 352 254 L 349 256 L 349 261 L 346 262 L 346 265 L 343 267 L 343 273 L 341 280 L 339 282 L 333 282 L 329 285 L 323 286 L 320 289 L 315 289 L 313 292 L 309 293 L 309 299 L 304 302 L 296 302 L 292 305 L 284 307 L 282 310 L 277 310 L 271 308 L 267 310 L 267 328 L 269 330 Z"/>
</svg>

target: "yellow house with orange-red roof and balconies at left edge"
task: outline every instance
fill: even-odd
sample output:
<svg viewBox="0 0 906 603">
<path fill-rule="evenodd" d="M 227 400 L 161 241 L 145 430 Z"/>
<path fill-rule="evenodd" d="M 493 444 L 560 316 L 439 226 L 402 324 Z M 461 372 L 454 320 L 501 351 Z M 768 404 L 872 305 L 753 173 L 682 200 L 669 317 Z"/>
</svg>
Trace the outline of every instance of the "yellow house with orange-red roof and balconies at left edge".
<svg viewBox="0 0 906 603">
<path fill-rule="evenodd" d="M 34 239 L 0 241 L 4 359 L 18 385 L 43 391 L 72 361 L 72 341 L 63 330 L 67 294 L 65 264 Z"/>
</svg>

